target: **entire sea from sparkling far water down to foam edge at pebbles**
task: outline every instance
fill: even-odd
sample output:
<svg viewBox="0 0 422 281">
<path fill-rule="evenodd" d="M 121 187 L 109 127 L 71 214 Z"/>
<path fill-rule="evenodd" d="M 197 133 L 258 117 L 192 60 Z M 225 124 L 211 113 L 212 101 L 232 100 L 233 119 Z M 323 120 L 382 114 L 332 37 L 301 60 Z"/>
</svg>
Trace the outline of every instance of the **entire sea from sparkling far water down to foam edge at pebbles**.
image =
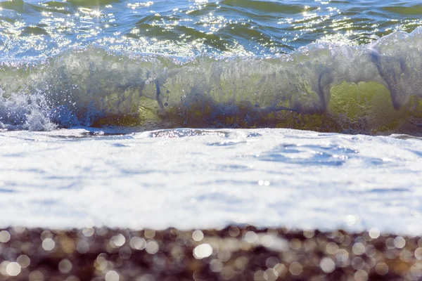
<svg viewBox="0 0 422 281">
<path fill-rule="evenodd" d="M 0 1 L 0 226 L 422 225 L 418 1 Z"/>
</svg>

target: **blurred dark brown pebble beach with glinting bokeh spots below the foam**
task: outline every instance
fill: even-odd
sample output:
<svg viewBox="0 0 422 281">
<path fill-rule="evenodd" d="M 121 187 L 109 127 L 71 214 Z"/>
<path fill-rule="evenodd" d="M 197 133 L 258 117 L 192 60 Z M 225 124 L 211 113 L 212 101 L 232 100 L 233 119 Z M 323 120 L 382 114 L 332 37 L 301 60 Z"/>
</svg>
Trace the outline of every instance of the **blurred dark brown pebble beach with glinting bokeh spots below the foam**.
<svg viewBox="0 0 422 281">
<path fill-rule="evenodd" d="M 0 280 L 418 280 L 421 260 L 376 229 L 0 228 Z"/>
</svg>

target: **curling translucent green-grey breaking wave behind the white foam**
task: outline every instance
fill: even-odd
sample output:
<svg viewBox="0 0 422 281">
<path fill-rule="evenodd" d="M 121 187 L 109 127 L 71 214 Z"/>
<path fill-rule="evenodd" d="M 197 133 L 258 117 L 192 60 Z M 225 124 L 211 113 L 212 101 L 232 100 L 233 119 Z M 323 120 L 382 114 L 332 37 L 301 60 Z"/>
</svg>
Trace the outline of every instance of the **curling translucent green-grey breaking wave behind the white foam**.
<svg viewBox="0 0 422 281">
<path fill-rule="evenodd" d="M 422 27 L 270 57 L 68 48 L 0 63 L 0 126 L 289 127 L 381 133 L 422 118 Z M 412 125 L 410 125 L 412 124 Z"/>
</svg>

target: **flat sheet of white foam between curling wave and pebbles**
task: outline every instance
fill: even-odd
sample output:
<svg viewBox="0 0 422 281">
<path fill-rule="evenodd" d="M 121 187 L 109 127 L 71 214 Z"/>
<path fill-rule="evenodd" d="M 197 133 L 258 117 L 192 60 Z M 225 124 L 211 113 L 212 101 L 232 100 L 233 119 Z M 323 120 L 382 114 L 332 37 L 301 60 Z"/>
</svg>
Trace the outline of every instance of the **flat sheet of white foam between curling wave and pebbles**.
<svg viewBox="0 0 422 281">
<path fill-rule="evenodd" d="M 0 227 L 422 231 L 420 138 L 93 130 L 0 133 Z"/>
</svg>

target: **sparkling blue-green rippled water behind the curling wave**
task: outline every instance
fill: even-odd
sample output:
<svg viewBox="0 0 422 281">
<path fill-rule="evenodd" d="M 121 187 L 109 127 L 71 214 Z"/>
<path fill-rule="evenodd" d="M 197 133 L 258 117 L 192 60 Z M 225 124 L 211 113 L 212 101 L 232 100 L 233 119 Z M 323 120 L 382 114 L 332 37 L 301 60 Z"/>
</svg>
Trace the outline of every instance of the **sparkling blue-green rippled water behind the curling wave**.
<svg viewBox="0 0 422 281">
<path fill-rule="evenodd" d="M 2 1 L 1 51 L 276 55 L 316 41 L 369 44 L 421 25 L 415 1 Z M 370 8 L 369 8 L 370 7 Z"/>
</svg>

